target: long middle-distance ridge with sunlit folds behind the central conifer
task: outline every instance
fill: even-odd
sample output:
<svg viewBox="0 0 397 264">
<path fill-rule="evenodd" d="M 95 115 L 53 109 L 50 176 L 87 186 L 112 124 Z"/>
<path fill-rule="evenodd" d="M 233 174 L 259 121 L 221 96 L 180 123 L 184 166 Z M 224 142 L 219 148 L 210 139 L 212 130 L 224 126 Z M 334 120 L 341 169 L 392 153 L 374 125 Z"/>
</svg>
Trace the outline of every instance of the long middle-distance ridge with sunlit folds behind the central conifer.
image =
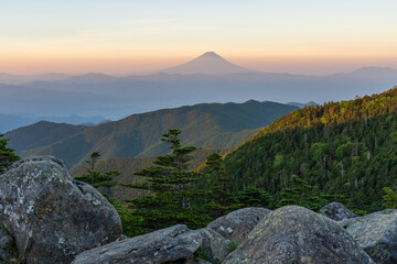
<svg viewBox="0 0 397 264">
<path fill-rule="evenodd" d="M 89 128 L 51 145 L 20 153 L 22 156 L 55 155 L 69 168 L 82 165 L 94 151 L 98 151 L 104 158 L 155 156 L 168 151 L 160 138 L 172 128 L 183 130 L 183 144 L 229 148 L 247 140 L 259 128 L 296 109 L 292 106 L 254 100 L 164 109 L 132 114 Z M 21 138 L 12 140 L 19 141 Z"/>
</svg>

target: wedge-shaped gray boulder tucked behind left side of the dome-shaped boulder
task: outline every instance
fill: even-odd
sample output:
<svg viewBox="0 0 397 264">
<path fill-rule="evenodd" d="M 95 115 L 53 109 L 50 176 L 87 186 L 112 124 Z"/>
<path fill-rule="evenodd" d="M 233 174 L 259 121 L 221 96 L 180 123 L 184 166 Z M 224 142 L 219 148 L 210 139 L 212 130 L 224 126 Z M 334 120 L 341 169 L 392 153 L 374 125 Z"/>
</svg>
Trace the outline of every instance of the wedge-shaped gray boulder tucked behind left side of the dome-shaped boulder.
<svg viewBox="0 0 397 264">
<path fill-rule="evenodd" d="M 207 228 L 240 244 L 257 223 L 270 212 L 260 207 L 244 208 L 216 219 Z"/>
</svg>

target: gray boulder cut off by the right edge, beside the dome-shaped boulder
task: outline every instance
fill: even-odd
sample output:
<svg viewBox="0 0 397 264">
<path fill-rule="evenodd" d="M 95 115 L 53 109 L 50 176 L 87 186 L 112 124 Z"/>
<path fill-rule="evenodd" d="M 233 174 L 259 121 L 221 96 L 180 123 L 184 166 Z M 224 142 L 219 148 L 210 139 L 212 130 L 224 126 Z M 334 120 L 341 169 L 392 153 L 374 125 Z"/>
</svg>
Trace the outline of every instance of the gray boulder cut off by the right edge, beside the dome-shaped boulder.
<svg viewBox="0 0 397 264">
<path fill-rule="evenodd" d="M 342 222 L 376 263 L 397 263 L 397 210 L 384 210 Z"/>
</svg>

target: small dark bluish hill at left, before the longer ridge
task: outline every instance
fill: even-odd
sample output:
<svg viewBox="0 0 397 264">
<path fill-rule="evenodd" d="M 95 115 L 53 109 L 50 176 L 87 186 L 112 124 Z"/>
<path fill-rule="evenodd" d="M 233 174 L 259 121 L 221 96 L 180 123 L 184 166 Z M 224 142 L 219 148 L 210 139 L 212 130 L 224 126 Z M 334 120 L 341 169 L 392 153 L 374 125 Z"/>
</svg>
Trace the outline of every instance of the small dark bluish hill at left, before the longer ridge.
<svg viewBox="0 0 397 264">
<path fill-rule="evenodd" d="M 10 140 L 9 146 L 15 152 L 28 151 L 53 144 L 60 140 L 86 131 L 90 127 L 40 121 L 37 123 L 12 130 L 4 134 Z"/>
</svg>

